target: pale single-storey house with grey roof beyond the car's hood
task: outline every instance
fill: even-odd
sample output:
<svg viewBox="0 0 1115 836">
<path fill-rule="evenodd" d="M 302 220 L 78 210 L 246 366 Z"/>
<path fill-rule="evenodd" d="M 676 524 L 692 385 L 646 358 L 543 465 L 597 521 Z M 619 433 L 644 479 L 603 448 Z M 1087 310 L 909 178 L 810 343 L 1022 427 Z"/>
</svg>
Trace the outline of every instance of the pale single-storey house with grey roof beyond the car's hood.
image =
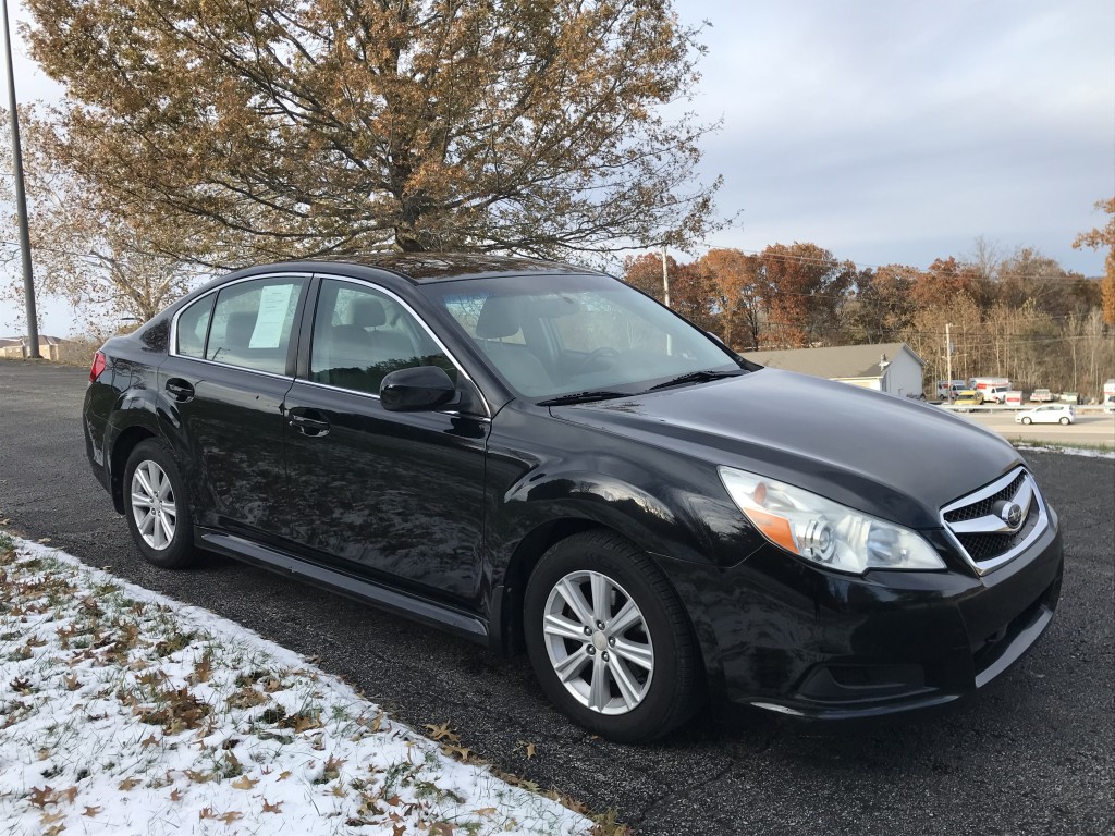
<svg viewBox="0 0 1115 836">
<path fill-rule="evenodd" d="M 899 397 L 919 398 L 924 392 L 925 361 L 904 342 L 748 351 L 744 357 L 774 369 L 799 371 Z"/>
</svg>

